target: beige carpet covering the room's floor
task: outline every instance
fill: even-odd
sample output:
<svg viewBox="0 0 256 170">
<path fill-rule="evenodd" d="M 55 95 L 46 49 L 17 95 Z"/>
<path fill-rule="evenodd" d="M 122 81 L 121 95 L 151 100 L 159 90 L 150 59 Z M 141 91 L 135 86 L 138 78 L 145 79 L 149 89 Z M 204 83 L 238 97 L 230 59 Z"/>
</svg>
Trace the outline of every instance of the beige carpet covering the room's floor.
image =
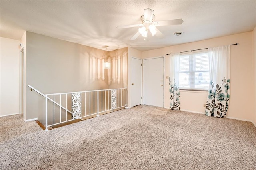
<svg viewBox="0 0 256 170">
<path fill-rule="evenodd" d="M 1 170 L 256 170 L 256 128 L 140 105 L 44 132 L 0 118 Z"/>
</svg>

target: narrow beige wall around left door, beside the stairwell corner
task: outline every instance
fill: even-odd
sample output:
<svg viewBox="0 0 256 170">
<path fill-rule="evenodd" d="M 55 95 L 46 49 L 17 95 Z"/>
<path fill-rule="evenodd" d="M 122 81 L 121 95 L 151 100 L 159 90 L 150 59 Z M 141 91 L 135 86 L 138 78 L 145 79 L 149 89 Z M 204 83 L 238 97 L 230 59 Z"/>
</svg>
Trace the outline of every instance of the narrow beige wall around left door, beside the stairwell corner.
<svg viewBox="0 0 256 170">
<path fill-rule="evenodd" d="M 133 49 L 131 47 L 128 47 L 128 107 L 131 107 L 131 85 L 132 85 L 132 80 L 131 80 L 131 71 L 132 71 L 132 65 L 131 65 L 131 59 L 132 57 L 135 58 L 140 58 L 142 59 L 142 51 L 139 51 L 137 49 Z"/>
</svg>

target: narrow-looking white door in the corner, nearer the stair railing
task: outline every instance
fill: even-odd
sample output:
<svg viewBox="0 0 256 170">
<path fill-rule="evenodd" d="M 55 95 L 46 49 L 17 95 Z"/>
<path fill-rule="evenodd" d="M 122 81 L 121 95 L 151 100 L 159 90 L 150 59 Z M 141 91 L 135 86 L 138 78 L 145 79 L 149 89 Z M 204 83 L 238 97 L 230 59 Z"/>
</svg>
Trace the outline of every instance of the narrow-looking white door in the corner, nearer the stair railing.
<svg viewBox="0 0 256 170">
<path fill-rule="evenodd" d="M 142 100 L 142 60 L 133 58 L 131 60 L 131 106 L 141 104 Z"/>
</svg>

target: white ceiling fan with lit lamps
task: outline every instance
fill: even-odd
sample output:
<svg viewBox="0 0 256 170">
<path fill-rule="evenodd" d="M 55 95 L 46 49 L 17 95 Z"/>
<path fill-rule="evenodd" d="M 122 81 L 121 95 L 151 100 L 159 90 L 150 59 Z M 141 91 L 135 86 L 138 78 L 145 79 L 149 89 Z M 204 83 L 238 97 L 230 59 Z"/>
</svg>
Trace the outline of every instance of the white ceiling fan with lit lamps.
<svg viewBox="0 0 256 170">
<path fill-rule="evenodd" d="M 131 27 L 140 27 L 138 32 L 131 38 L 131 40 L 135 40 L 140 36 L 143 37 L 148 36 L 148 30 L 151 32 L 152 36 L 156 35 L 158 38 L 164 38 L 164 34 L 160 32 L 156 26 L 168 26 L 168 25 L 179 25 L 182 24 L 182 19 L 175 20 L 164 20 L 164 21 L 154 21 L 155 15 L 153 14 L 154 10 L 152 9 L 144 9 L 144 15 L 140 17 L 142 24 L 134 24 L 128 26 L 117 26 L 116 28 L 131 28 Z"/>
</svg>

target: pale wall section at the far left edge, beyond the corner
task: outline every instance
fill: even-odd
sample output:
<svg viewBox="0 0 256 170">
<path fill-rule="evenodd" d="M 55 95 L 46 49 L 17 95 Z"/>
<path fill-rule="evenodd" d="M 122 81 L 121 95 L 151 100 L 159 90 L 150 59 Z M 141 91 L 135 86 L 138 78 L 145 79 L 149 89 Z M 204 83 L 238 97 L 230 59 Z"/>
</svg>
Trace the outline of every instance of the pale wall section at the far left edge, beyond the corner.
<svg viewBox="0 0 256 170">
<path fill-rule="evenodd" d="M 0 116 L 19 111 L 20 41 L 0 38 Z"/>
</svg>

